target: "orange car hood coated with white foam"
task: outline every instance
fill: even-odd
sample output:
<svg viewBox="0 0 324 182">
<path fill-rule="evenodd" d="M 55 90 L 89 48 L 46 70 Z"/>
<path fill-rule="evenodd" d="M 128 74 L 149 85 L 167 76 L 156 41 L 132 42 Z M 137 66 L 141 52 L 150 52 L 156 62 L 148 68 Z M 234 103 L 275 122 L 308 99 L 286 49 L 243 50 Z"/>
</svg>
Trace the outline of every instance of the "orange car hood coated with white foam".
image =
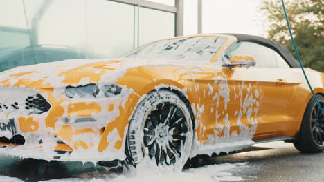
<svg viewBox="0 0 324 182">
<path fill-rule="evenodd" d="M 13 68 L 0 73 L 0 85 L 26 88 L 60 88 L 66 85 L 114 83 L 129 68 L 138 66 L 195 66 L 193 63 L 140 59 L 73 59 Z"/>
</svg>

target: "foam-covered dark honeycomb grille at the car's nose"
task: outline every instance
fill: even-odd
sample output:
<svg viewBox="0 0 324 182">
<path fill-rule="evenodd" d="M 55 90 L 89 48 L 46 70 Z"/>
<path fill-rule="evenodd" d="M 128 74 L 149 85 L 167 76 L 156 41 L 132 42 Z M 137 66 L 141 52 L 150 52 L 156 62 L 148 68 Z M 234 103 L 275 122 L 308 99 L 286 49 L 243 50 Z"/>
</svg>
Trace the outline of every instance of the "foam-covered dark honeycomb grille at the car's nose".
<svg viewBox="0 0 324 182">
<path fill-rule="evenodd" d="M 32 88 L 0 87 L 1 115 L 42 114 L 50 108 L 50 103 Z"/>
</svg>

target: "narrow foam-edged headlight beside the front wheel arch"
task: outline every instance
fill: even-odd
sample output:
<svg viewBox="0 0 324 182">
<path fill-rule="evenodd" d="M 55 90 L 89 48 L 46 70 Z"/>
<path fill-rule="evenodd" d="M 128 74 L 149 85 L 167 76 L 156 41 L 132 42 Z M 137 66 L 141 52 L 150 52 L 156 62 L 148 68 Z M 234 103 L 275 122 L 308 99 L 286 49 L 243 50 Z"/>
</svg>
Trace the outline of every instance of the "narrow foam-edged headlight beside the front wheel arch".
<svg viewBox="0 0 324 182">
<path fill-rule="evenodd" d="M 78 87 L 68 86 L 65 89 L 65 94 L 69 98 L 96 98 L 100 94 L 100 91 L 103 92 L 103 95 L 105 95 L 105 97 L 114 97 L 118 94 L 121 94 L 122 88 L 116 84 L 102 85 L 101 90 L 96 84 L 89 84 Z"/>
</svg>

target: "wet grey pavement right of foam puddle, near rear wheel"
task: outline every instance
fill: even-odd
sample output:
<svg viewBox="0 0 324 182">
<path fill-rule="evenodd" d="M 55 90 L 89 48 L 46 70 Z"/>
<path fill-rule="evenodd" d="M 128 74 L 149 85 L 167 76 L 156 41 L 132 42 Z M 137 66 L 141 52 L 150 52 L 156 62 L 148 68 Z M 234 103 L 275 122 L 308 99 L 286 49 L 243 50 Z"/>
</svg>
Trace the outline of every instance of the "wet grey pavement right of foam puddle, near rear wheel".
<svg viewBox="0 0 324 182">
<path fill-rule="evenodd" d="M 250 152 L 220 156 L 213 163 L 249 162 L 233 172 L 244 181 L 324 181 L 324 152 L 303 154 L 283 141 L 254 145 Z"/>
</svg>

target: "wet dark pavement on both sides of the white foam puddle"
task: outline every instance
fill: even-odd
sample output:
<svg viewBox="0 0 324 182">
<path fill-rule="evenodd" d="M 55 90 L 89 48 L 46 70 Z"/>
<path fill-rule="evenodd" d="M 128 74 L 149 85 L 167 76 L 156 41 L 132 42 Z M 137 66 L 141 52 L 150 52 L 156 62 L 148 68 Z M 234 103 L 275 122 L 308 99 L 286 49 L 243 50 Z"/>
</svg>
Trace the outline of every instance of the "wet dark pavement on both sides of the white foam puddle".
<svg viewBox="0 0 324 182">
<path fill-rule="evenodd" d="M 324 182 L 324 152 L 302 154 L 291 143 L 281 141 L 254 145 L 237 154 L 202 161 L 204 165 L 245 162 L 248 164 L 231 171 L 233 176 L 241 176 L 243 181 Z M 17 177 L 24 181 L 109 175 L 111 173 L 105 168 L 93 163 L 48 162 L 0 155 L 0 176 Z"/>
</svg>

